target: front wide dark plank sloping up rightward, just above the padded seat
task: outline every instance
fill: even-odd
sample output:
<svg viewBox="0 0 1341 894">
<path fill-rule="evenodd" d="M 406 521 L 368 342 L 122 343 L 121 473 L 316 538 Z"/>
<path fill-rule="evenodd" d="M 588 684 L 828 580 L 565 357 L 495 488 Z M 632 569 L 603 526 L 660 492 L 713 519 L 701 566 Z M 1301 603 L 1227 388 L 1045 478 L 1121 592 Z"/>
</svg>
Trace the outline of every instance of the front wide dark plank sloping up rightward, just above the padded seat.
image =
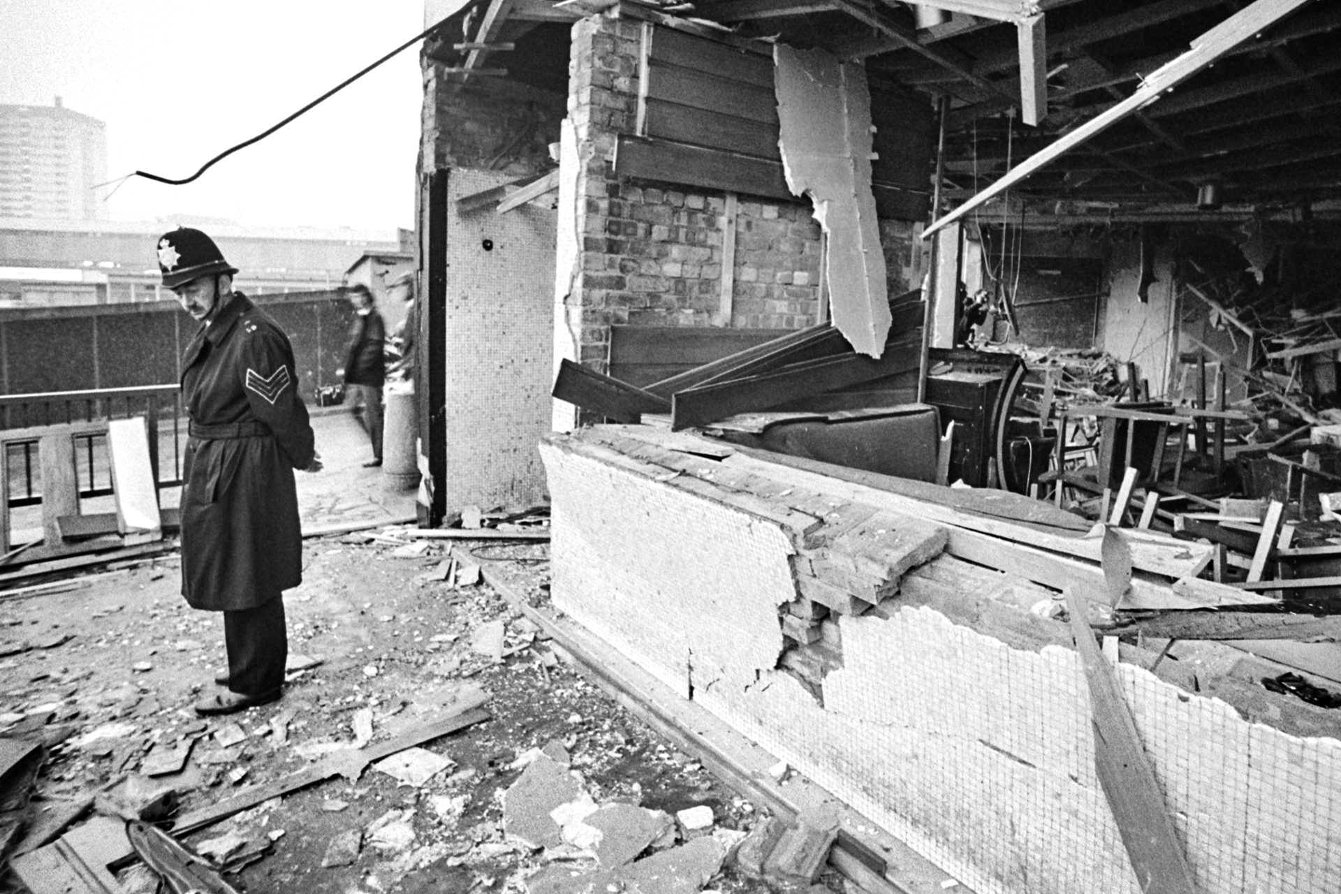
<svg viewBox="0 0 1341 894">
<path fill-rule="evenodd" d="M 750 379 L 677 391 L 672 398 L 670 428 L 708 425 L 736 413 L 767 410 L 787 401 L 907 373 L 917 369 L 920 348 L 920 339 L 900 339 L 886 344 L 880 359 L 857 354 L 835 357 Z"/>
</svg>

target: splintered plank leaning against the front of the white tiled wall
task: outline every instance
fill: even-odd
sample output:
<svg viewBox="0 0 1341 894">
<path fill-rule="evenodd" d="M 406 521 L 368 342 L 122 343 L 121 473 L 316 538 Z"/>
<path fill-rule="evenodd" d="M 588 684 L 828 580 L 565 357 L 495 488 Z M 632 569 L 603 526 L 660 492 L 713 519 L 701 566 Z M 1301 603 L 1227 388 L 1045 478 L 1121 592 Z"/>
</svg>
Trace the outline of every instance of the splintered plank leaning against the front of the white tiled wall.
<svg viewBox="0 0 1341 894">
<path fill-rule="evenodd" d="M 1137 882 L 1148 894 L 1196 894 L 1192 870 L 1122 697 L 1117 673 L 1094 642 L 1085 603 L 1075 588 L 1066 590 L 1066 610 L 1089 685 L 1096 775 Z"/>
</svg>

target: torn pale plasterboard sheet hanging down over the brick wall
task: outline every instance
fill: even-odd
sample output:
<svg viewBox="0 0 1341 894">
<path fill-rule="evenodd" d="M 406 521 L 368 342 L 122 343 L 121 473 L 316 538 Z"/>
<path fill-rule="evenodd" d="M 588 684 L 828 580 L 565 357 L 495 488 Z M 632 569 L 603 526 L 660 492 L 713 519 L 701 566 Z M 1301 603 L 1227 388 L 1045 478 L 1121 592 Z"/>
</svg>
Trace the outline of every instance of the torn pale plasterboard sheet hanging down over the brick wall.
<svg viewBox="0 0 1341 894">
<path fill-rule="evenodd" d="M 810 196 L 829 235 L 834 326 L 861 354 L 878 358 L 889 334 L 885 255 L 870 190 L 870 92 L 861 66 L 823 50 L 775 44 L 782 168 L 793 194 Z"/>
</svg>

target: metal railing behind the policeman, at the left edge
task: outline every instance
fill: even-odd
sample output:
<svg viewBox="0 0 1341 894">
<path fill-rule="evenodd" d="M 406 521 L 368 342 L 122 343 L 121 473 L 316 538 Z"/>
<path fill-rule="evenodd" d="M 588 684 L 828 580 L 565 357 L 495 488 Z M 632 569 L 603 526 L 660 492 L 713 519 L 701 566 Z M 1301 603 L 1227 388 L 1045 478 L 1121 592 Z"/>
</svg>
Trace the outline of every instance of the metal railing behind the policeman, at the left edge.
<svg viewBox="0 0 1341 894">
<path fill-rule="evenodd" d="M 134 416 L 143 416 L 148 424 L 149 461 L 158 488 L 178 487 L 185 413 L 177 385 L 0 395 L 0 440 L 4 442 L 9 505 L 17 508 L 42 503 L 42 474 L 36 470 L 40 469 L 40 457 L 35 458 L 42 429 Z M 111 495 L 106 436 L 76 433 L 74 438 L 79 496 Z M 162 460 L 170 460 L 166 469 Z"/>
</svg>

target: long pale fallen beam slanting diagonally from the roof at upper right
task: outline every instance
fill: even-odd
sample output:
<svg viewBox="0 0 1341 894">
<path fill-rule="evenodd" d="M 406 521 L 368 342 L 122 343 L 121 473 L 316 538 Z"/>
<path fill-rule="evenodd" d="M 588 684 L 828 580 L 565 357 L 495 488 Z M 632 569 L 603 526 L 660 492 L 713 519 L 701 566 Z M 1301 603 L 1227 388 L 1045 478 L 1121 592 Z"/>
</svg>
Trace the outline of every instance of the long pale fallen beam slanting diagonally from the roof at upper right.
<svg viewBox="0 0 1341 894">
<path fill-rule="evenodd" d="M 1211 28 L 1193 40 L 1192 48 L 1180 55 L 1177 59 L 1157 71 L 1151 72 L 1149 78 L 1147 78 L 1130 97 L 1100 114 L 1097 118 L 1085 122 L 1071 133 L 1050 145 L 1047 149 L 1035 153 L 995 184 L 982 190 L 955 210 L 944 214 L 940 220 L 932 222 L 932 225 L 923 232 L 923 237 L 925 239 L 931 236 L 947 224 L 959 220 L 972 209 L 980 208 L 987 201 L 1006 192 L 1012 185 L 1023 181 L 1034 172 L 1047 166 L 1071 149 L 1075 149 L 1093 137 L 1104 133 L 1117 122 L 1130 115 L 1133 111 L 1145 109 L 1152 103 L 1157 103 L 1165 91 L 1172 90 L 1196 72 L 1202 71 L 1234 47 L 1238 47 L 1247 40 L 1252 40 L 1258 34 L 1270 28 L 1273 24 L 1307 3 L 1309 0 L 1255 0 L 1252 5 L 1247 7 L 1242 12 L 1236 12 L 1219 25 Z"/>
</svg>

